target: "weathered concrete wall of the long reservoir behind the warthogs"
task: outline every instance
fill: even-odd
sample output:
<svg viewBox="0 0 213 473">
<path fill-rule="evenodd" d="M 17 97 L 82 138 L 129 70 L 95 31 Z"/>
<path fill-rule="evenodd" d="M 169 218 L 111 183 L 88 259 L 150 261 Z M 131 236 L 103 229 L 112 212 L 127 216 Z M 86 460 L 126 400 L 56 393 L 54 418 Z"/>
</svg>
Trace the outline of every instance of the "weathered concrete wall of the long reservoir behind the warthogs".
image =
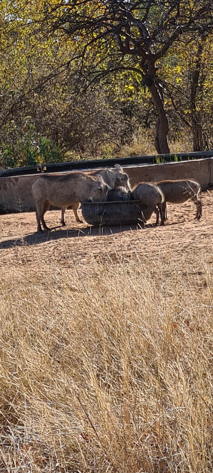
<svg viewBox="0 0 213 473">
<path fill-rule="evenodd" d="M 86 171 L 89 172 L 88 169 Z M 129 175 L 132 185 L 141 181 L 159 182 L 164 179 L 189 178 L 196 179 L 201 184 L 202 190 L 213 185 L 213 158 L 147 166 L 128 166 L 124 167 L 124 171 Z M 62 173 L 57 174 L 61 175 Z M 35 205 L 31 187 L 38 177 L 39 174 L 2 177 L 0 179 L 0 212 L 34 211 Z"/>
</svg>

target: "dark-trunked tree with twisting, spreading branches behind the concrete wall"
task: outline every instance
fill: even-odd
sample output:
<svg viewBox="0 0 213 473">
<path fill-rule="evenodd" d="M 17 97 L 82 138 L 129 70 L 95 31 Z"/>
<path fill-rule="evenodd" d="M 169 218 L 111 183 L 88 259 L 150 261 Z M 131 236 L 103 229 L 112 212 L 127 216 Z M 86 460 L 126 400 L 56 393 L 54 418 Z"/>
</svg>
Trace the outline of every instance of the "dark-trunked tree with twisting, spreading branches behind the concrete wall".
<svg viewBox="0 0 213 473">
<path fill-rule="evenodd" d="M 158 112 L 155 148 L 169 153 L 158 62 L 181 38 L 190 42 L 212 32 L 212 0 L 56 0 L 44 24 L 81 49 L 79 83 L 88 87 L 106 74 L 128 70 L 148 88 Z"/>
</svg>

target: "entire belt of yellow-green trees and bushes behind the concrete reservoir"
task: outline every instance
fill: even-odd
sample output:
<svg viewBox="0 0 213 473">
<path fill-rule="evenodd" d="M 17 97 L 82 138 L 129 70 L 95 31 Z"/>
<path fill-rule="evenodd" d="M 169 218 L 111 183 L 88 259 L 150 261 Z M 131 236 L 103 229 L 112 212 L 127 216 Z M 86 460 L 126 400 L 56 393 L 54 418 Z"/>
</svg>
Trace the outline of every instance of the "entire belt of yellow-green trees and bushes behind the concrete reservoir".
<svg viewBox="0 0 213 473">
<path fill-rule="evenodd" d="M 170 143 L 211 149 L 212 25 L 208 0 L 1 1 L 0 166 L 107 158 L 154 129 L 167 152 L 168 117 Z"/>
</svg>

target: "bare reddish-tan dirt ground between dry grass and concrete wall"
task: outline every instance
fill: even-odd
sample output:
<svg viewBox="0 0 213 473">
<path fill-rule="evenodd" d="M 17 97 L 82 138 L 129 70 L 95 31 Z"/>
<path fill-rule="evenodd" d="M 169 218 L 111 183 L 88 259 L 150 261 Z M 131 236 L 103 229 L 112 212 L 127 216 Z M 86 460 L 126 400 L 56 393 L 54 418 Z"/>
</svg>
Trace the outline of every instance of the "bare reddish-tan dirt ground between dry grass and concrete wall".
<svg viewBox="0 0 213 473">
<path fill-rule="evenodd" d="M 49 211 L 46 223 L 51 232 L 36 232 L 35 213 L 0 215 L 1 275 L 30 270 L 32 273 L 51 271 L 54 267 L 69 268 L 71 261 L 81 266 L 91 260 L 119 261 L 143 256 L 150 259 L 166 258 L 174 254 L 177 261 L 191 264 L 191 255 L 212 253 L 213 191 L 203 193 L 203 217 L 194 220 L 195 206 L 191 201 L 181 205 L 169 204 L 168 221 L 164 227 L 153 227 L 155 215 L 144 229 L 114 227 L 99 229 L 77 224 L 72 210 L 65 214 L 66 227 L 60 225 L 60 211 Z M 80 214 L 80 211 L 79 211 Z M 81 214 L 80 214 L 81 217 Z M 211 259 L 211 258 L 210 258 Z M 212 261 L 210 261 L 212 263 Z"/>
</svg>

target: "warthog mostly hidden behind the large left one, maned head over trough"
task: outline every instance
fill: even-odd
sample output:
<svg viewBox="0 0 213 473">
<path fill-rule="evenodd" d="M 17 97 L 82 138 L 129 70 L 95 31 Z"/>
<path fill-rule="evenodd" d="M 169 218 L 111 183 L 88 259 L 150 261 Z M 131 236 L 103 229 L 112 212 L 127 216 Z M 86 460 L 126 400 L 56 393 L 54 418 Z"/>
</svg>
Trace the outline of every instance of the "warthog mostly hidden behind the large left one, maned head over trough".
<svg viewBox="0 0 213 473">
<path fill-rule="evenodd" d="M 104 179 L 104 182 L 108 184 L 108 186 L 111 189 L 115 189 L 118 186 L 123 186 L 126 189 L 131 190 L 128 174 L 125 174 L 122 167 L 118 164 L 115 165 L 115 169 L 108 169 L 106 167 L 104 169 L 96 169 L 94 171 L 89 171 L 86 174 L 91 175 L 91 176 L 100 175 Z M 66 225 L 64 221 L 64 214 L 67 207 L 68 206 L 62 207 L 61 224 L 63 227 Z M 76 221 L 78 223 L 82 223 L 82 220 L 80 220 L 78 216 L 78 212 L 77 212 L 78 208 L 79 208 L 79 202 L 77 202 L 75 205 L 72 206 L 72 210 L 75 215 Z"/>
</svg>

